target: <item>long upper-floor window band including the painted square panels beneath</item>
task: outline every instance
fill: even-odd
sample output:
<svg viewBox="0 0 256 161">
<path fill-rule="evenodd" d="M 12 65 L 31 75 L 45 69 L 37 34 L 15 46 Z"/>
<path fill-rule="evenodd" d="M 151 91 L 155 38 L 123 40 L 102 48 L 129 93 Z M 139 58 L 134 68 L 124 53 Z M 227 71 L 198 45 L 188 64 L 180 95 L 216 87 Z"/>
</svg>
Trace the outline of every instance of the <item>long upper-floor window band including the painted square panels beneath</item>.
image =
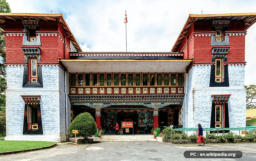
<svg viewBox="0 0 256 161">
<path fill-rule="evenodd" d="M 70 73 L 70 94 L 183 94 L 183 73 Z"/>
</svg>

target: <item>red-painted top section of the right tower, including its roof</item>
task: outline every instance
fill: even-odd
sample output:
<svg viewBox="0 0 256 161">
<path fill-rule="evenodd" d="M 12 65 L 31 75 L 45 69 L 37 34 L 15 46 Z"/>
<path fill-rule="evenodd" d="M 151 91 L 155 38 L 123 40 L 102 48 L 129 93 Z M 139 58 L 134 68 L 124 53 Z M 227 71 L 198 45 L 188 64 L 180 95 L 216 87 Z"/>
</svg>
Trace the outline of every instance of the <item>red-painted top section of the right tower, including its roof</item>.
<svg viewBox="0 0 256 161">
<path fill-rule="evenodd" d="M 228 25 L 221 26 L 225 22 Z M 194 59 L 195 63 L 207 63 L 212 60 L 213 48 L 229 48 L 227 62 L 244 62 L 246 30 L 253 23 L 255 13 L 189 15 L 171 51 L 184 52 L 184 58 Z M 219 29 L 223 30 L 225 42 L 215 40 Z"/>
</svg>

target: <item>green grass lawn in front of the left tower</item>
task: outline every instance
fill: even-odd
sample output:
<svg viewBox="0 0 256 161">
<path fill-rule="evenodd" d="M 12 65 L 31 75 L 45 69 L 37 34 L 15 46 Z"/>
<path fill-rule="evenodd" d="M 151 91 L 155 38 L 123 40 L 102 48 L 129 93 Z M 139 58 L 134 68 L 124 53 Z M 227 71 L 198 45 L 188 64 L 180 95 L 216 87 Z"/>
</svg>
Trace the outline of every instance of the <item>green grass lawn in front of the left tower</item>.
<svg viewBox="0 0 256 161">
<path fill-rule="evenodd" d="M 0 152 L 47 147 L 55 142 L 0 140 Z"/>
</svg>

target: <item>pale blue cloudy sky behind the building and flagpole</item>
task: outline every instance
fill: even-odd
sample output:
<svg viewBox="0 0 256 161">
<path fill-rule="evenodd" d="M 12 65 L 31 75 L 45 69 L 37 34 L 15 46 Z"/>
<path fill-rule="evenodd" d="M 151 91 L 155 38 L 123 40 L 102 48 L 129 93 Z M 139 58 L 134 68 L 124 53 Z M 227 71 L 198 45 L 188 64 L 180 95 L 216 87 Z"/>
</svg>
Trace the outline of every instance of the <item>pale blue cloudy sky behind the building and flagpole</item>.
<svg viewBox="0 0 256 161">
<path fill-rule="evenodd" d="M 12 13 L 62 13 L 83 51 L 169 52 L 189 14 L 256 12 L 255 0 L 7 0 Z M 247 30 L 245 85 L 256 84 L 256 24 Z M 239 79 L 239 78 L 238 78 Z"/>
</svg>

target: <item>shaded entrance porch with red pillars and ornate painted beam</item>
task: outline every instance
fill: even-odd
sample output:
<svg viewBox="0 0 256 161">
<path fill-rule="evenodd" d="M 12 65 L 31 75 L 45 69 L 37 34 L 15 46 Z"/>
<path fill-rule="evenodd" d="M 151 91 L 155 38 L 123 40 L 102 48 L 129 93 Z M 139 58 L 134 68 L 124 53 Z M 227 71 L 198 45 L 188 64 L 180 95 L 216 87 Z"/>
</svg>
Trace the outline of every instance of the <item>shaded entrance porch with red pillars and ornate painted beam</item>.
<svg viewBox="0 0 256 161">
<path fill-rule="evenodd" d="M 71 121 L 82 112 L 95 117 L 97 128 L 113 134 L 116 122 L 134 122 L 134 134 L 149 134 L 151 129 L 183 125 L 184 95 L 70 95 Z M 112 125 L 112 127 L 111 127 Z M 132 134 L 132 131 L 123 134 Z"/>
</svg>

